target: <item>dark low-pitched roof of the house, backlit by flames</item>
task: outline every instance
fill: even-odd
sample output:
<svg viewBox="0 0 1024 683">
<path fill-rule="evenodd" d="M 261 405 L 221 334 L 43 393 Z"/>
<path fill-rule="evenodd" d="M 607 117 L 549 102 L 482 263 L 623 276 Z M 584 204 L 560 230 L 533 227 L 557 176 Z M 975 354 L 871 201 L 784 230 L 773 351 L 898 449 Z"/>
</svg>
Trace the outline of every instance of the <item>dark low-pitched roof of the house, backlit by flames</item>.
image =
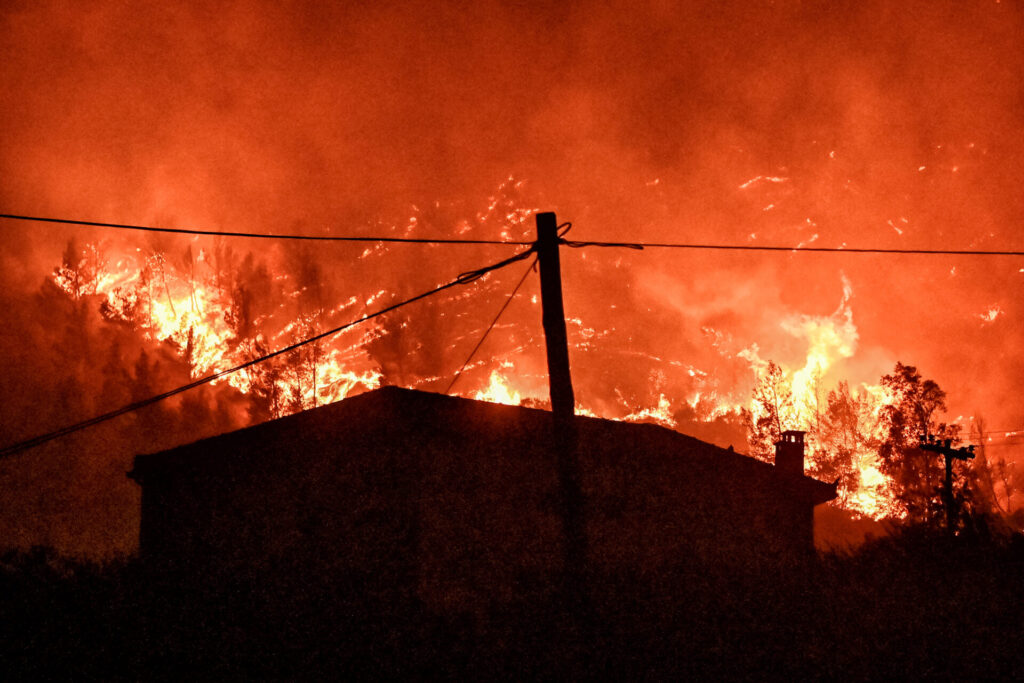
<svg viewBox="0 0 1024 683">
<path fill-rule="evenodd" d="M 608 444 L 614 444 L 624 456 L 686 459 L 687 465 L 700 469 L 731 470 L 737 478 L 774 480 L 781 490 L 799 493 L 814 505 L 837 495 L 836 484 L 804 475 L 785 476 L 771 464 L 658 425 L 583 416 L 577 416 L 573 424 L 581 450 L 607 451 Z M 525 439 L 536 447 L 551 429 L 549 411 L 388 386 L 169 451 L 139 455 L 129 476 L 147 485 L 162 476 L 263 468 L 284 458 L 301 467 L 316 458 L 324 444 L 372 445 L 374 439 L 395 434 L 412 437 L 414 443 L 456 435 L 489 444 L 521 445 Z"/>
</svg>

